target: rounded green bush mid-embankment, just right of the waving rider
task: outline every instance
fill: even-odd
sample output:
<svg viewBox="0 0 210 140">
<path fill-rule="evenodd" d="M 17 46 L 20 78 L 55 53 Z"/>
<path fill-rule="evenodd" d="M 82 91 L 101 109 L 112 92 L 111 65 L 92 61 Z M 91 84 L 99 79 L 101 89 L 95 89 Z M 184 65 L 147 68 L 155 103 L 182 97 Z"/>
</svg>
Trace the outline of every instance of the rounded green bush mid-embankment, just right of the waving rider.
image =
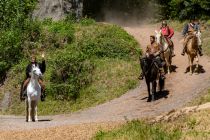
<svg viewBox="0 0 210 140">
<path fill-rule="evenodd" d="M 57 52 L 49 61 L 50 87 L 48 94 L 55 99 L 77 99 L 79 91 L 88 86 L 92 80 L 94 65 L 87 56 L 74 47 L 68 46 Z"/>
</svg>

